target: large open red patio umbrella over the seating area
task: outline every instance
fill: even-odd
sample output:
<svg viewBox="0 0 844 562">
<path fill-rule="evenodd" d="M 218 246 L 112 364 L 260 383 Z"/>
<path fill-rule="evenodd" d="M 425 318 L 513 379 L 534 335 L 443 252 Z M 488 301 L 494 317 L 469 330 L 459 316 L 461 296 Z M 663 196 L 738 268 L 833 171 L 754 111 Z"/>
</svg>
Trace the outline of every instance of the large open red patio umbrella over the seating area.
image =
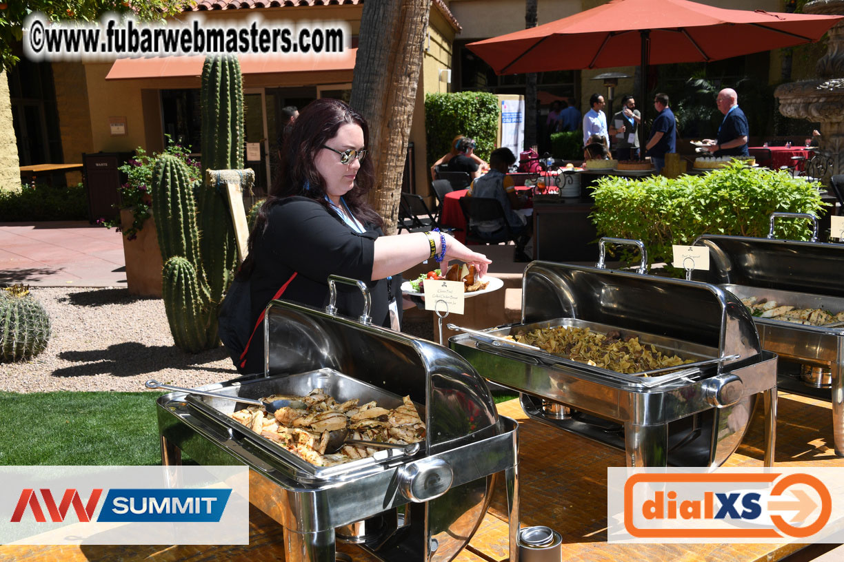
<svg viewBox="0 0 844 562">
<path fill-rule="evenodd" d="M 466 45 L 497 74 L 709 62 L 819 40 L 841 16 L 611 0 L 549 24 Z M 640 107 L 646 85 L 641 81 Z"/>
</svg>

